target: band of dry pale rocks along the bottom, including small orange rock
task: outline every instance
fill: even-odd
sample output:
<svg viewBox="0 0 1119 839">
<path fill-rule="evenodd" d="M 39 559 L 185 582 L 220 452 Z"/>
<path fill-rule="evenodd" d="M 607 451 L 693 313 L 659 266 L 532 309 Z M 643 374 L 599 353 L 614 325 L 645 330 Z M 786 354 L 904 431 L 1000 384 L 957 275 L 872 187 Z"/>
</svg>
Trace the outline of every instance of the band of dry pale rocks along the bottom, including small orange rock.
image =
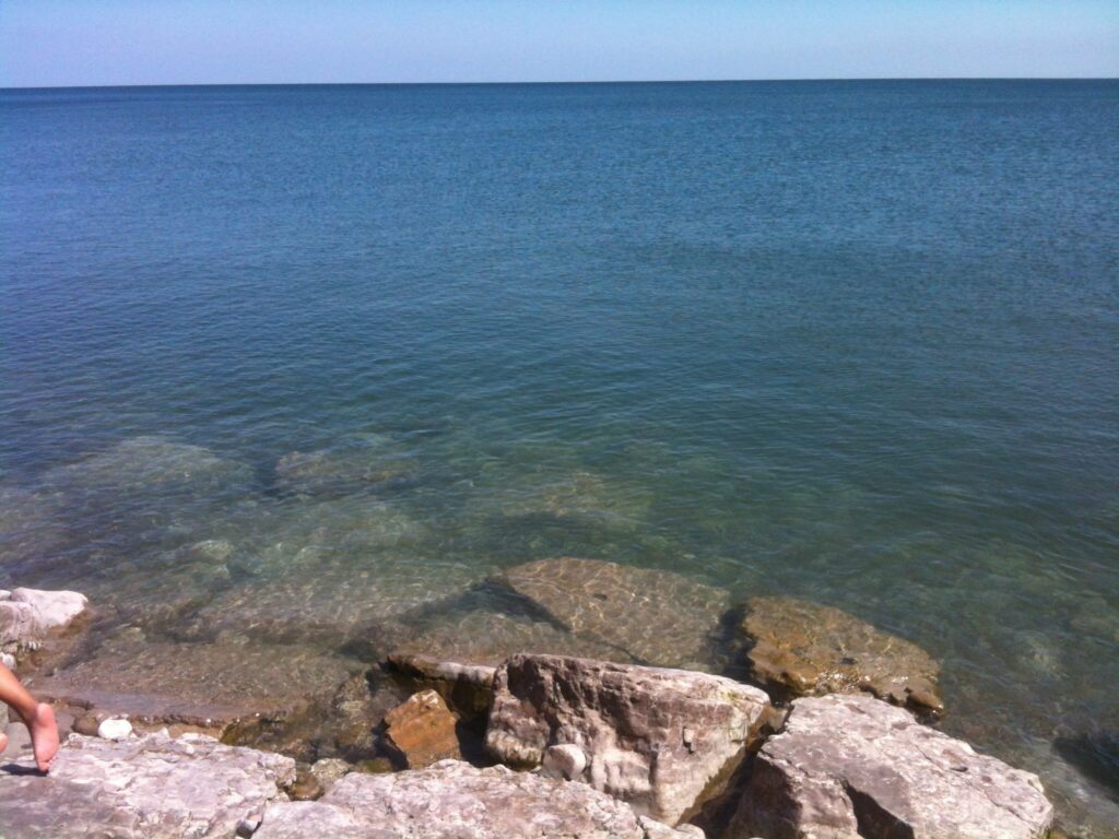
<svg viewBox="0 0 1119 839">
<path fill-rule="evenodd" d="M 115 739 L 69 737 L 46 777 L 22 757 L 0 766 L 0 836 L 703 836 L 690 820 L 712 839 L 1042 839 L 1052 821 L 1036 776 L 865 692 L 800 698 L 786 718 L 764 691 L 689 670 L 530 653 L 496 670 L 416 656 L 386 666 L 416 692 L 385 705 L 367 730 L 413 769 L 299 769 L 280 754 L 199 734 L 137 736 L 125 724 Z M 346 685 L 347 704 L 372 690 L 356 677 Z M 480 730 L 489 757 L 513 769 L 424 767 Z M 308 796 L 319 800 L 291 800 Z"/>
</svg>

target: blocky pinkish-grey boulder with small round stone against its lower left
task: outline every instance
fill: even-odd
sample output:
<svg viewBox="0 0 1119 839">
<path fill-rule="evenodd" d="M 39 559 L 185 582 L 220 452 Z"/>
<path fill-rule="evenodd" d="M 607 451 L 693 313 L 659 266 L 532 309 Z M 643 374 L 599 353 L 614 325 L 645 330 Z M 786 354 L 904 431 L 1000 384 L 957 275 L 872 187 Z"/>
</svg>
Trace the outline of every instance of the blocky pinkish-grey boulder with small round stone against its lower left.
<svg viewBox="0 0 1119 839">
<path fill-rule="evenodd" d="M 514 656 L 493 678 L 486 747 L 677 824 L 725 790 L 771 710 L 761 690 L 717 676 Z"/>
</svg>

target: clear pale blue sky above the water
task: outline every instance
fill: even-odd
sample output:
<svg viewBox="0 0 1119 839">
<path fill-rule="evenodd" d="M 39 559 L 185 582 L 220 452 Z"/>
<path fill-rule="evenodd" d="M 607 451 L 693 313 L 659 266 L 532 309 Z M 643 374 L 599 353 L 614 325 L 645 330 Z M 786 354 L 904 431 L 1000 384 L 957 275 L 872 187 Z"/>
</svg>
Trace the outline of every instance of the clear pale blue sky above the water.
<svg viewBox="0 0 1119 839">
<path fill-rule="evenodd" d="M 1119 76 L 1119 0 L 0 0 L 0 86 Z"/>
</svg>

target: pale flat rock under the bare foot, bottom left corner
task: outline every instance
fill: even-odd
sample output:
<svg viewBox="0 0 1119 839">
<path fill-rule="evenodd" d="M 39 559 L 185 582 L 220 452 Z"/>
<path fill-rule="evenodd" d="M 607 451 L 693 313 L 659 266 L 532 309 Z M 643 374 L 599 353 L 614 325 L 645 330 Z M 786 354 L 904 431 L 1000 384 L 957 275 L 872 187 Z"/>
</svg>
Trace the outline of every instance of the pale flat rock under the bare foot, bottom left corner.
<svg viewBox="0 0 1119 839">
<path fill-rule="evenodd" d="M 223 746 L 211 737 L 163 734 L 120 742 L 73 735 L 50 774 L 0 766 L 4 839 L 201 839 L 283 799 L 295 764 Z"/>
</svg>

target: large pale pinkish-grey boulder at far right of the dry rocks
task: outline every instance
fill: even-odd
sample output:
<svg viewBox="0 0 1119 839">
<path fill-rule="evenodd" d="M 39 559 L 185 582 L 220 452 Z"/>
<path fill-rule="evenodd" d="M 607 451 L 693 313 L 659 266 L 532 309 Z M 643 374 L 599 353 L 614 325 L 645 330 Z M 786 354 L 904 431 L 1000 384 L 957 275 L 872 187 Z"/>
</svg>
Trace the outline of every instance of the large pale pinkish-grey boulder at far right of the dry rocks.
<svg viewBox="0 0 1119 839">
<path fill-rule="evenodd" d="M 762 746 L 730 836 L 1042 839 L 1036 775 L 868 696 L 797 699 Z"/>
</svg>

